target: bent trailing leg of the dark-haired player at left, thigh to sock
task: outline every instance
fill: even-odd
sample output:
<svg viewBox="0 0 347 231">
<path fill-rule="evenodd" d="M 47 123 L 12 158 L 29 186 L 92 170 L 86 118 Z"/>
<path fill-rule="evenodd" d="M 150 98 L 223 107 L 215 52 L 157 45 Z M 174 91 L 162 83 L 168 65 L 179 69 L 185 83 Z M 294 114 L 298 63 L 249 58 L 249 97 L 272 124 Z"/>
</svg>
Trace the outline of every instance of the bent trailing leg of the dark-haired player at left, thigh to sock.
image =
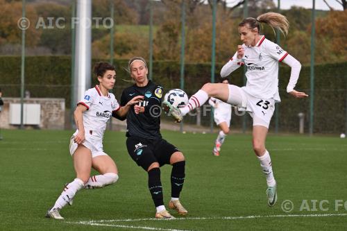
<svg viewBox="0 0 347 231">
<path fill-rule="evenodd" d="M 115 162 L 108 155 L 99 155 L 92 159 L 92 167 L 101 175 L 91 176 L 85 189 L 98 189 L 117 182 L 118 170 Z"/>
</svg>

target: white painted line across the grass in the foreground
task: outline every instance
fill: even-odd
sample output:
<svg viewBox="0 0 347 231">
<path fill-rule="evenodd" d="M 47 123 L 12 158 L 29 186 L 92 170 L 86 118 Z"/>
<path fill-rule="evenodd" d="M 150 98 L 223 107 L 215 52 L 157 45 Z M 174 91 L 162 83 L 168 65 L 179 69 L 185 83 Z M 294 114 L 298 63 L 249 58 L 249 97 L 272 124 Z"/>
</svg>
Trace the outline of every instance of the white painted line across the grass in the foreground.
<svg viewBox="0 0 347 231">
<path fill-rule="evenodd" d="M 103 222 L 124 222 L 124 221 L 182 221 L 182 220 L 237 220 L 237 219 L 262 219 L 262 218 L 287 218 L 287 217 L 326 217 L 326 216 L 347 216 L 347 214 L 282 214 L 282 215 L 250 215 L 250 216 L 222 216 L 222 217 L 187 217 L 176 219 L 115 219 L 100 221 L 80 221 L 79 223 L 103 223 Z"/>
</svg>

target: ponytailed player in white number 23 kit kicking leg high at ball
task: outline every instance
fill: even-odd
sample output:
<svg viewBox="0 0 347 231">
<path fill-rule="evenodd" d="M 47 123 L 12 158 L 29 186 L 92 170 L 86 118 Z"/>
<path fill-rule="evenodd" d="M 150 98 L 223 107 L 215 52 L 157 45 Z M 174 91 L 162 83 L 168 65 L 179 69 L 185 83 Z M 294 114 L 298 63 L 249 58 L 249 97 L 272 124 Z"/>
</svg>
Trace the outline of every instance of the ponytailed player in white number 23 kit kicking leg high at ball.
<svg viewBox="0 0 347 231">
<path fill-rule="evenodd" d="M 305 92 L 294 90 L 300 74 L 300 62 L 278 44 L 266 40 L 264 35 L 260 35 L 260 23 L 278 28 L 284 34 L 288 33 L 287 18 L 275 12 L 267 12 L 257 19 L 248 17 L 239 24 L 239 36 L 243 44 L 237 47 L 235 55 L 221 69 L 221 77 L 228 76 L 232 71 L 246 65 L 247 83 L 245 87 L 206 83 L 189 99 L 188 105 L 184 108 L 174 108 L 169 103 L 163 102 L 163 109 L 167 112 L 170 111 L 176 121 L 181 121 L 185 114 L 203 105 L 209 97 L 244 108 L 253 117 L 253 150 L 266 176 L 266 195 L 268 205 L 272 207 L 277 200 L 277 184 L 273 177 L 269 151 L 265 148 L 265 140 L 275 110 L 275 103 L 280 102 L 278 62 L 284 62 L 291 67 L 287 92 L 295 98 L 304 98 L 308 95 Z"/>
</svg>

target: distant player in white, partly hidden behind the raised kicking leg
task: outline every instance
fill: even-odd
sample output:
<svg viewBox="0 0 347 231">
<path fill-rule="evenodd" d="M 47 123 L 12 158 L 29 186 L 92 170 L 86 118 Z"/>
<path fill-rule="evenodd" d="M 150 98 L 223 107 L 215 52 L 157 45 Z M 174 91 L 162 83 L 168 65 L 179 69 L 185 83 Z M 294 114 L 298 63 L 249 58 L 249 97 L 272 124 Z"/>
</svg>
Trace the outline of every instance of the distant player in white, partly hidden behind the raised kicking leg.
<svg viewBox="0 0 347 231">
<path fill-rule="evenodd" d="M 220 83 L 229 84 L 229 78 L 224 77 L 219 81 Z M 219 131 L 216 142 L 214 142 L 213 155 L 219 156 L 221 151 L 221 145 L 223 144 L 226 136 L 229 134 L 230 119 L 231 119 L 231 105 L 229 103 L 224 103 L 223 101 L 211 97 L 208 101 L 210 105 L 214 108 L 214 122 L 221 129 Z"/>
</svg>

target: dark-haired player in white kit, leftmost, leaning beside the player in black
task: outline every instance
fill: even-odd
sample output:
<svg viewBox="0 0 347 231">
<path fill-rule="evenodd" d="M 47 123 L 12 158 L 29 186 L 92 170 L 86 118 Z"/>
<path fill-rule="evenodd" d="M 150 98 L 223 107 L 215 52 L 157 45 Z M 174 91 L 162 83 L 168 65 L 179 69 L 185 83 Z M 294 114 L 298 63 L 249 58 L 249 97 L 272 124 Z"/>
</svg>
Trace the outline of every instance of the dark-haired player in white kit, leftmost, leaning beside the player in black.
<svg viewBox="0 0 347 231">
<path fill-rule="evenodd" d="M 118 180 L 115 162 L 103 152 L 103 133 L 112 112 L 124 117 L 143 96 L 137 96 L 120 107 L 115 95 L 108 92 L 115 85 L 115 67 L 108 62 L 99 62 L 94 67 L 94 73 L 99 85 L 87 89 L 74 112 L 77 130 L 70 139 L 70 154 L 74 159 L 76 178 L 65 185 L 56 203 L 46 213 L 47 218 L 64 219 L 59 211 L 65 205 L 72 204 L 78 190 L 102 188 Z M 92 168 L 101 174 L 90 177 Z"/>
</svg>

